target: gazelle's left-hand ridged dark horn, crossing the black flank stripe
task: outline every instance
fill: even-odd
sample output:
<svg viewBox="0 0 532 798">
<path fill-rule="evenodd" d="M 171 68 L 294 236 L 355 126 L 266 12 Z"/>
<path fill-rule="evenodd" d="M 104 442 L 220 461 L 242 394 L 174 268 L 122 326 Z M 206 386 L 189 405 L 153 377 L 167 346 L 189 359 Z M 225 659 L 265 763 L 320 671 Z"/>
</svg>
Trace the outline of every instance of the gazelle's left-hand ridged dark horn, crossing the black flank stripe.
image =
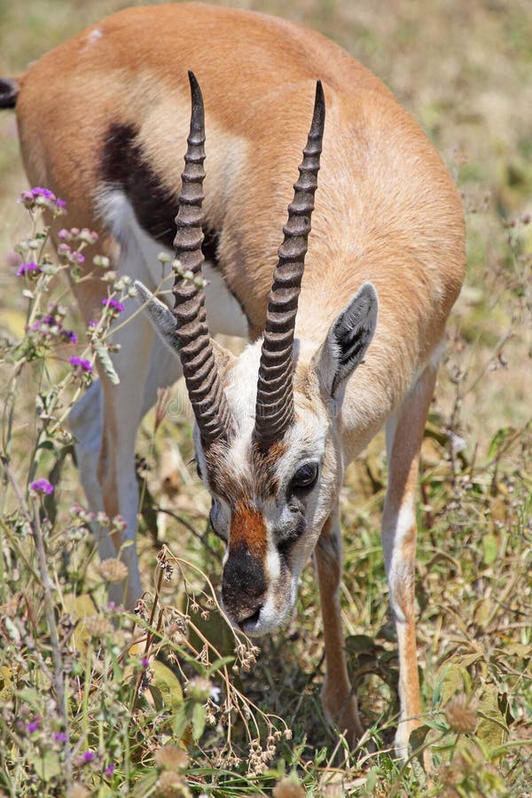
<svg viewBox="0 0 532 798">
<path fill-rule="evenodd" d="M 192 72 L 189 72 L 189 81 L 192 94 L 191 129 L 184 156 L 182 187 L 178 196 L 174 246 L 176 258 L 185 271 L 192 271 L 195 278 L 200 276 L 204 261 L 201 251 L 201 203 L 205 196 L 205 113 L 200 86 Z M 193 278 L 191 280 L 178 276 L 173 293 L 179 357 L 201 440 L 207 445 L 215 441 L 226 441 L 233 424 L 208 332 L 205 292 L 202 287 L 194 285 Z"/>
</svg>

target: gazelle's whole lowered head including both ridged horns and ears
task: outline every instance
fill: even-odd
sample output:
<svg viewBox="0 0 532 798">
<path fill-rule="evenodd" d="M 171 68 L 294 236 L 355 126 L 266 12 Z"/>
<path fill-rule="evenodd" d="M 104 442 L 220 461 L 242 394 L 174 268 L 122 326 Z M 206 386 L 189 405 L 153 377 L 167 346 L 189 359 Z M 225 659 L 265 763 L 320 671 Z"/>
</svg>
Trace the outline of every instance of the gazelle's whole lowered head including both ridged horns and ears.
<svg viewBox="0 0 532 798">
<path fill-rule="evenodd" d="M 197 277 L 205 133 L 200 88 L 189 77 L 192 120 L 175 246 L 184 270 Z M 377 321 L 375 289 L 364 283 L 346 298 L 316 351 L 309 354 L 294 340 L 324 122 L 317 82 L 261 340 L 239 357 L 216 344 L 203 289 L 193 278 L 176 278 L 173 311 L 136 284 L 157 331 L 183 364 L 199 473 L 212 497 L 210 520 L 227 544 L 223 604 L 250 635 L 275 629 L 291 610 L 302 567 L 333 511 L 343 479 L 341 402 Z"/>
</svg>

